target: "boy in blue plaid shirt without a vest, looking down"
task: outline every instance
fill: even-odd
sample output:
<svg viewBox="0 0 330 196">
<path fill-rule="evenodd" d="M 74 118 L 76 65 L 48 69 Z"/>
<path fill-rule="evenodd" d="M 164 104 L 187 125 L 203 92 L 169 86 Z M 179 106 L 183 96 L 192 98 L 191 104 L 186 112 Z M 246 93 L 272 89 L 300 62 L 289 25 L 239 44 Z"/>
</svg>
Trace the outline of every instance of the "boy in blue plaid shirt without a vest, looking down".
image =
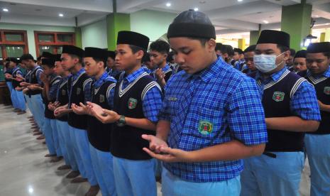
<svg viewBox="0 0 330 196">
<path fill-rule="evenodd" d="M 167 82 L 156 136 L 144 151 L 163 160 L 163 195 L 239 195 L 243 160 L 267 142 L 258 86 L 217 58 L 214 26 L 184 11 L 167 37 L 183 71 Z"/>
</svg>

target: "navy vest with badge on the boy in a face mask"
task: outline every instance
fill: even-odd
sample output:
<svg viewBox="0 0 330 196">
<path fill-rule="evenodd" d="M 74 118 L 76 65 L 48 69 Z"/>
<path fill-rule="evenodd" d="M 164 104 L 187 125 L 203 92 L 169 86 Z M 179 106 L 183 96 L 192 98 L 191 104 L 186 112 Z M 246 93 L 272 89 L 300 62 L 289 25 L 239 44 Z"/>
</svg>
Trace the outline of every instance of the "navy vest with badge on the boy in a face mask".
<svg viewBox="0 0 330 196">
<path fill-rule="evenodd" d="M 250 76 L 255 75 L 253 73 Z M 264 86 L 263 108 L 265 117 L 296 116 L 290 111 L 290 100 L 295 91 L 304 82 L 304 78 L 287 70 L 277 82 L 270 82 Z M 258 85 L 261 85 L 258 81 Z M 281 131 L 267 129 L 268 143 L 265 151 L 292 152 L 303 151 L 304 133 L 295 131 Z"/>
</svg>

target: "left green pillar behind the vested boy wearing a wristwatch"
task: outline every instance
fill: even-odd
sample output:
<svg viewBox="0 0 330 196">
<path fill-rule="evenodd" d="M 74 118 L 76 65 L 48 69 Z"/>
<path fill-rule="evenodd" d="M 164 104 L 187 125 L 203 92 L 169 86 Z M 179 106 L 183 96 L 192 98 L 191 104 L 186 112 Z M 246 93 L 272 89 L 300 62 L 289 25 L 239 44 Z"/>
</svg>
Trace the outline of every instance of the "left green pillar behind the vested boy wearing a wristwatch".
<svg viewBox="0 0 330 196">
<path fill-rule="evenodd" d="M 116 49 L 119 31 L 131 31 L 131 19 L 127 13 L 111 13 L 106 16 L 108 50 Z"/>
</svg>

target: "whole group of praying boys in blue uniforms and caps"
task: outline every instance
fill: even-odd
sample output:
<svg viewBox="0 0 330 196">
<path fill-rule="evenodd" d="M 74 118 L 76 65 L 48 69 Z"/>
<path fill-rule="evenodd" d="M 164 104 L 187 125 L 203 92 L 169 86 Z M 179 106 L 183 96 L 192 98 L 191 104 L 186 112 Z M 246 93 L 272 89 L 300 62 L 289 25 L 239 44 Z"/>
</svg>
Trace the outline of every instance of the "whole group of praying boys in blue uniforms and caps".
<svg viewBox="0 0 330 196">
<path fill-rule="evenodd" d="M 282 31 L 262 31 L 239 65 L 199 11 L 180 13 L 167 38 L 150 44 L 151 70 L 149 38 L 132 31 L 115 53 L 64 45 L 43 69 L 22 56 L 28 107 L 66 178 L 88 181 L 86 195 L 157 195 L 162 168 L 165 196 L 299 195 L 305 152 L 311 195 L 330 194 L 330 43 L 298 51 L 296 74 Z"/>
</svg>

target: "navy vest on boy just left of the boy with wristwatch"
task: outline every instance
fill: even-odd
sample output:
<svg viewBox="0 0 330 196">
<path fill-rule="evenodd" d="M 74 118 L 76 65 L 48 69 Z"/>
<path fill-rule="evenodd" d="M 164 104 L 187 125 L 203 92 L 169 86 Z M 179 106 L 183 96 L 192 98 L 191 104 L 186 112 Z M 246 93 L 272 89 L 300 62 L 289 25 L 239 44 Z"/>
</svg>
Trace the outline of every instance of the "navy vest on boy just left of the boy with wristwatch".
<svg viewBox="0 0 330 196">
<path fill-rule="evenodd" d="M 114 88 L 116 83 L 111 81 L 104 82 L 98 89 L 92 88 L 92 102 L 98 104 L 104 109 L 111 110 L 109 106 L 108 94 Z M 94 116 L 88 116 L 87 135 L 89 143 L 97 148 L 99 151 L 110 152 L 111 131 L 113 124 L 102 124 Z"/>
</svg>

